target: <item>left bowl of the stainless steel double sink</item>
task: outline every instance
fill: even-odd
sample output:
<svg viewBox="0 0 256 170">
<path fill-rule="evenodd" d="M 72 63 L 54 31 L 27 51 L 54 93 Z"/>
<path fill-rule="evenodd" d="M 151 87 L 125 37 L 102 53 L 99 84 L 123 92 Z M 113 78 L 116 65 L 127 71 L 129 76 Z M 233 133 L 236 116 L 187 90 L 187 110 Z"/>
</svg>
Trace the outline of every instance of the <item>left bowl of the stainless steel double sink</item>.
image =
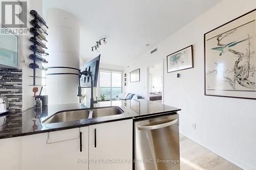
<svg viewBox="0 0 256 170">
<path fill-rule="evenodd" d="M 48 119 L 46 119 L 44 124 L 52 124 L 52 123 L 59 123 L 59 122 L 69 122 L 74 120 L 80 119 L 87 119 L 89 118 L 90 110 L 75 110 L 75 111 L 66 111 L 57 113 Z"/>
</svg>

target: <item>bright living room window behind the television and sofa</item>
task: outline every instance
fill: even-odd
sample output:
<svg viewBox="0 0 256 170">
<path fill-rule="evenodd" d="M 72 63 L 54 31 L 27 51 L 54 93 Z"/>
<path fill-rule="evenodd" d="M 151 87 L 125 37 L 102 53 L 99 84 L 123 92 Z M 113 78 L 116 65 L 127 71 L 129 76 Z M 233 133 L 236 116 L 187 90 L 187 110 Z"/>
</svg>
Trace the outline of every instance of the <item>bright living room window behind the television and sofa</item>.
<svg viewBox="0 0 256 170">
<path fill-rule="evenodd" d="M 105 94 L 106 100 L 115 99 L 122 93 L 122 71 L 99 71 L 99 94 Z"/>
</svg>

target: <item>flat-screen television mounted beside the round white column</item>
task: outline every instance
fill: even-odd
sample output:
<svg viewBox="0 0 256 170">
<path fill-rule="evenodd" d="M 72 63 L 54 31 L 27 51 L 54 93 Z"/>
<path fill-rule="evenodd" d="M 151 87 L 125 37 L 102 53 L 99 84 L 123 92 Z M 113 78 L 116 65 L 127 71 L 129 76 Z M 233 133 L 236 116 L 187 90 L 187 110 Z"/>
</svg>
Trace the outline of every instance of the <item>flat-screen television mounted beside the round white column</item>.
<svg viewBox="0 0 256 170">
<path fill-rule="evenodd" d="M 84 70 L 91 71 L 93 77 L 93 87 L 97 87 L 98 75 L 99 75 L 99 61 L 100 55 L 84 65 L 81 72 Z M 91 87 L 91 78 L 84 75 L 80 79 L 81 87 Z"/>
</svg>

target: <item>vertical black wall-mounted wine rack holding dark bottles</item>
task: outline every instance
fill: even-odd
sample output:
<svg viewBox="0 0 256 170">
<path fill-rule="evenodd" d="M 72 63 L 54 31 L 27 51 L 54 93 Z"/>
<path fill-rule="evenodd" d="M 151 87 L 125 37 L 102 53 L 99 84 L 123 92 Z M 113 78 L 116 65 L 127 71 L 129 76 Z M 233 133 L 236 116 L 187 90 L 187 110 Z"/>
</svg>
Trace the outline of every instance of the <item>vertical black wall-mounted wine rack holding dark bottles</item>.
<svg viewBox="0 0 256 170">
<path fill-rule="evenodd" d="M 41 64 L 37 64 L 36 62 L 48 63 L 48 61 L 42 57 L 49 55 L 44 50 L 48 48 L 43 42 L 47 42 L 46 36 L 48 35 L 48 26 L 46 21 L 35 10 L 31 10 L 30 14 L 34 17 L 34 19 L 30 21 L 33 27 L 29 29 L 30 33 L 33 34 L 33 37 L 30 37 L 29 39 L 33 43 L 33 45 L 30 45 L 29 47 L 29 49 L 33 52 L 33 54 L 29 55 L 29 58 L 33 60 L 33 62 L 29 64 L 29 67 L 33 69 L 33 76 L 30 76 L 33 78 L 33 84 L 29 86 L 45 86 L 41 85 L 41 83 L 36 84 L 36 79 L 46 79 L 45 77 L 36 76 L 36 70 L 47 71 L 47 68 L 41 66 Z"/>
</svg>

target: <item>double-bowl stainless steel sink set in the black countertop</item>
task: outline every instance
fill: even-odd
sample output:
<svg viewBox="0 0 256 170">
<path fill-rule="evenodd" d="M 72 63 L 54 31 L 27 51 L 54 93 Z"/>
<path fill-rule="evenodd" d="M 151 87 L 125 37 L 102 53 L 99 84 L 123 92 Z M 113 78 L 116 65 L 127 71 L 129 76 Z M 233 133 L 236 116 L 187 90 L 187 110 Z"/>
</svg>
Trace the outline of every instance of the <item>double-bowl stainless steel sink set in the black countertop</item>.
<svg viewBox="0 0 256 170">
<path fill-rule="evenodd" d="M 79 109 L 72 111 L 57 112 L 44 120 L 44 124 L 60 123 L 60 122 L 70 122 L 81 119 L 96 118 L 103 116 L 113 116 L 122 114 L 123 110 L 119 107 L 105 107 L 105 108 L 95 108 L 95 109 Z"/>
</svg>

